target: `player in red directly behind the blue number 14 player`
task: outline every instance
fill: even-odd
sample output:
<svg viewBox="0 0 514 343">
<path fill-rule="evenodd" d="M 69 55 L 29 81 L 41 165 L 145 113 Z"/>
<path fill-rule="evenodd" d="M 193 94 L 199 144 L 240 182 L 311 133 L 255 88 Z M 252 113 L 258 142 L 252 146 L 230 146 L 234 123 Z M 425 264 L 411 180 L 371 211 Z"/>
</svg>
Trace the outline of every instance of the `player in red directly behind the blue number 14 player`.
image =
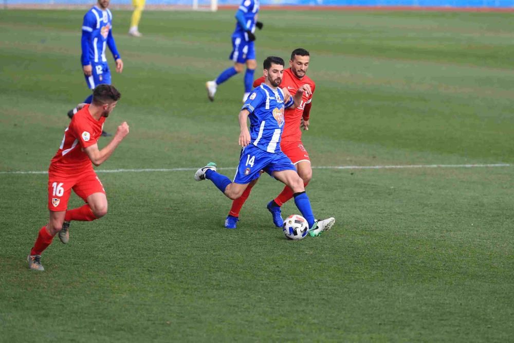
<svg viewBox="0 0 514 343">
<path fill-rule="evenodd" d="M 302 144 L 302 131 L 309 129 L 309 114 L 312 97 L 316 88 L 316 84 L 308 76 L 305 75 L 309 67 L 310 55 L 305 49 L 295 49 L 291 53 L 289 60 L 289 69 L 284 70 L 284 76 L 280 86 L 287 89 L 290 94 L 295 94 L 297 89 L 303 84 L 308 84 L 311 93 L 304 93 L 302 102 L 296 109 L 286 109 L 284 112 L 284 131 L 282 132 L 282 139 L 280 142 L 281 150 L 289 157 L 292 163 L 296 166 L 298 175 L 303 179 L 305 186 L 309 183 L 313 176 L 313 170 L 310 167 L 309 154 Z M 264 77 L 261 77 L 253 82 L 253 87 L 259 86 L 264 82 Z M 252 187 L 257 180 L 251 182 L 241 197 L 232 202 L 232 207 L 225 220 L 225 227 L 228 229 L 235 229 L 237 221 L 239 220 L 239 212 L 250 195 Z M 277 227 L 282 227 L 283 220 L 281 216 L 280 207 L 292 198 L 293 193 L 289 187 L 284 187 L 282 192 L 270 201 L 267 209 L 273 215 L 273 223 Z"/>
</svg>

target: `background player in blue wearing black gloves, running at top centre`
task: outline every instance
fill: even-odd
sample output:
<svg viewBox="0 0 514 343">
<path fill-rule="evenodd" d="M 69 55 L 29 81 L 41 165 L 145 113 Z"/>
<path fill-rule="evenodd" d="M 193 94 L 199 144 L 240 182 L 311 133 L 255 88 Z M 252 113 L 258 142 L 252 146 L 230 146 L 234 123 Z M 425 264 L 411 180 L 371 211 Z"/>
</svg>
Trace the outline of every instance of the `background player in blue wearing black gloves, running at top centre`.
<svg viewBox="0 0 514 343">
<path fill-rule="evenodd" d="M 207 96 L 209 100 L 214 101 L 214 94 L 218 84 L 221 84 L 245 68 L 245 94 L 243 96 L 243 102 L 250 94 L 253 83 L 253 74 L 257 67 L 255 61 L 255 48 L 253 41 L 255 41 L 255 27 L 262 29 L 263 24 L 257 21 L 257 15 L 259 13 L 259 0 L 243 0 L 241 6 L 235 13 L 235 30 L 232 33 L 232 53 L 230 59 L 234 62 L 234 66 L 225 69 L 219 76 L 213 81 L 207 81 Z"/>
</svg>

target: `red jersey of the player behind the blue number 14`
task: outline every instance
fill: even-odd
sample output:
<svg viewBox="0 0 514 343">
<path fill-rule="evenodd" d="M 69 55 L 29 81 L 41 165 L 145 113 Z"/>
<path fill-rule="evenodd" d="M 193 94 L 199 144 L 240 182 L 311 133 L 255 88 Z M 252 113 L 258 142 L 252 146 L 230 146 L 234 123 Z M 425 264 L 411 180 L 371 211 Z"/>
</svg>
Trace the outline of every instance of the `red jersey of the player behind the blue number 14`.
<svg viewBox="0 0 514 343">
<path fill-rule="evenodd" d="M 256 87 L 264 82 L 264 76 L 253 82 L 253 86 Z M 280 82 L 281 88 L 287 88 L 291 96 L 294 96 L 298 88 L 300 88 L 303 84 L 308 84 L 310 86 L 311 91 L 314 94 L 314 88 L 316 88 L 316 84 L 313 80 L 311 80 L 307 75 L 303 78 L 297 78 L 291 71 L 291 68 L 287 68 L 284 70 L 284 74 L 282 77 L 282 81 Z M 310 103 L 313 100 L 313 94 L 307 96 L 303 93 L 302 102 L 296 109 L 286 109 L 284 112 L 284 130 L 282 132 L 282 140 L 287 142 L 299 142 L 302 140 L 302 131 L 300 129 L 300 123 L 302 121 L 302 115 L 304 106 Z"/>
</svg>

